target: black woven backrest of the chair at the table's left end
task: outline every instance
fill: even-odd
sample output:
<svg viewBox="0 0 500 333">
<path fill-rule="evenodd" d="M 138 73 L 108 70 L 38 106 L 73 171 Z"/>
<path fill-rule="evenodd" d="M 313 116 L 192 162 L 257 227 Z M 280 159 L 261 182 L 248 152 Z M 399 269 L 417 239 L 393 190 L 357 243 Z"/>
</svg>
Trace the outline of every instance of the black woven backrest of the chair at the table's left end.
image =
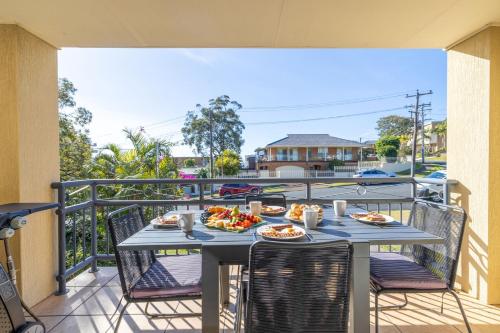
<svg viewBox="0 0 500 333">
<path fill-rule="evenodd" d="M 129 295 L 130 289 L 156 261 L 156 258 L 153 251 L 118 250 L 117 245 L 145 226 L 144 214 L 138 205 L 121 208 L 108 215 L 108 227 L 124 295 Z"/>
</svg>

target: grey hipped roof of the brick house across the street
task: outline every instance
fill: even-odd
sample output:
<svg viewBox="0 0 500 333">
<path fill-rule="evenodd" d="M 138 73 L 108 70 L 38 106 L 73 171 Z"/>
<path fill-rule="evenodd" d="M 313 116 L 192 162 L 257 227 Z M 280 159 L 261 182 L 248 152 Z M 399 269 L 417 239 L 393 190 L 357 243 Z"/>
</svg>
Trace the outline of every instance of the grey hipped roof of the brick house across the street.
<svg viewBox="0 0 500 333">
<path fill-rule="evenodd" d="M 271 142 L 266 147 L 362 147 L 363 144 L 330 134 L 287 134 L 286 138 Z"/>
</svg>

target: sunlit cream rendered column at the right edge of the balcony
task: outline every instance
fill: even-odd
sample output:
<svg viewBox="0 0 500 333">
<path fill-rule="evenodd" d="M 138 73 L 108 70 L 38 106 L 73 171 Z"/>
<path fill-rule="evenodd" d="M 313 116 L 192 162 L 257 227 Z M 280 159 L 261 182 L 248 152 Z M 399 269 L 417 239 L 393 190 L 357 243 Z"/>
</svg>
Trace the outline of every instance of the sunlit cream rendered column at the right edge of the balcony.
<svg viewBox="0 0 500 333">
<path fill-rule="evenodd" d="M 469 216 L 457 282 L 500 303 L 500 28 L 448 51 L 448 177 Z"/>
</svg>

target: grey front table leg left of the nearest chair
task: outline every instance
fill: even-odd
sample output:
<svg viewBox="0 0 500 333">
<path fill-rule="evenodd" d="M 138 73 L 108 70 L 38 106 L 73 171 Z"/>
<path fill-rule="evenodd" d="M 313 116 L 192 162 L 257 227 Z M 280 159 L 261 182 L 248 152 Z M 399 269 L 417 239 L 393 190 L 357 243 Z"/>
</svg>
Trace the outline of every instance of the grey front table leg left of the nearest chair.
<svg viewBox="0 0 500 333">
<path fill-rule="evenodd" d="M 219 259 L 210 247 L 202 248 L 202 316 L 203 333 L 219 333 Z"/>
</svg>

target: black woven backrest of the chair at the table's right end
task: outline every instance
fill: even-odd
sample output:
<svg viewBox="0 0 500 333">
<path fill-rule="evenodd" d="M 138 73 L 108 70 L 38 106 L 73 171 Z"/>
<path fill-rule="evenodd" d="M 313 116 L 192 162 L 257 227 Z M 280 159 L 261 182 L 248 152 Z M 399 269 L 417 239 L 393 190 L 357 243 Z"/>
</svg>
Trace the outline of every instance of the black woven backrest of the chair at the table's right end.
<svg viewBox="0 0 500 333">
<path fill-rule="evenodd" d="M 415 201 L 408 224 L 442 237 L 444 244 L 404 245 L 402 254 L 453 288 L 466 219 L 467 215 L 461 208 L 422 200 Z"/>
</svg>

